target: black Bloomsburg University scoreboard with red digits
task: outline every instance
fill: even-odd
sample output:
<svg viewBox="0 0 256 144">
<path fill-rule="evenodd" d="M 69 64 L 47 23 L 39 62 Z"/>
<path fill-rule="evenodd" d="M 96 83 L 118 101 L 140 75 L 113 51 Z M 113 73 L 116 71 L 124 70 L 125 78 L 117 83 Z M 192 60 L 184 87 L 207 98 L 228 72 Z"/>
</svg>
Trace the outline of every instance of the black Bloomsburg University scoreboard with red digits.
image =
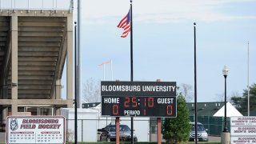
<svg viewBox="0 0 256 144">
<path fill-rule="evenodd" d="M 102 116 L 177 117 L 176 82 L 102 82 Z"/>
</svg>

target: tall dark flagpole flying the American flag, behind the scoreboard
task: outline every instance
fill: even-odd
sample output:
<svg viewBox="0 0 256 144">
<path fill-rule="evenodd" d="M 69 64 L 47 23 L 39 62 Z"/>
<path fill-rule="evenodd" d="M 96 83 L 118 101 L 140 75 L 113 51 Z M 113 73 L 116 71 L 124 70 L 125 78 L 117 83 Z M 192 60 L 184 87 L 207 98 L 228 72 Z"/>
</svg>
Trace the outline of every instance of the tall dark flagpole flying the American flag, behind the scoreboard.
<svg viewBox="0 0 256 144">
<path fill-rule="evenodd" d="M 133 6 L 130 0 L 130 81 L 134 81 L 134 60 L 133 60 Z M 131 144 L 134 144 L 134 117 L 130 117 Z"/>
</svg>

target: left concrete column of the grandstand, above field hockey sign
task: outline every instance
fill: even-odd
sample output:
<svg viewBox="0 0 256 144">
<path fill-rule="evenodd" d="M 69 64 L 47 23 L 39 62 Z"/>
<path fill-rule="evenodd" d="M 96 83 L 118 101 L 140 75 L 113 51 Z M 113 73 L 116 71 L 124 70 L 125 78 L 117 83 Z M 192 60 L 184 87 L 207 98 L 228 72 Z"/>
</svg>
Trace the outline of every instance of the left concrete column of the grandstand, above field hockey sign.
<svg viewBox="0 0 256 144">
<path fill-rule="evenodd" d="M 18 17 L 11 17 L 11 105 L 12 115 L 18 112 Z"/>
</svg>

